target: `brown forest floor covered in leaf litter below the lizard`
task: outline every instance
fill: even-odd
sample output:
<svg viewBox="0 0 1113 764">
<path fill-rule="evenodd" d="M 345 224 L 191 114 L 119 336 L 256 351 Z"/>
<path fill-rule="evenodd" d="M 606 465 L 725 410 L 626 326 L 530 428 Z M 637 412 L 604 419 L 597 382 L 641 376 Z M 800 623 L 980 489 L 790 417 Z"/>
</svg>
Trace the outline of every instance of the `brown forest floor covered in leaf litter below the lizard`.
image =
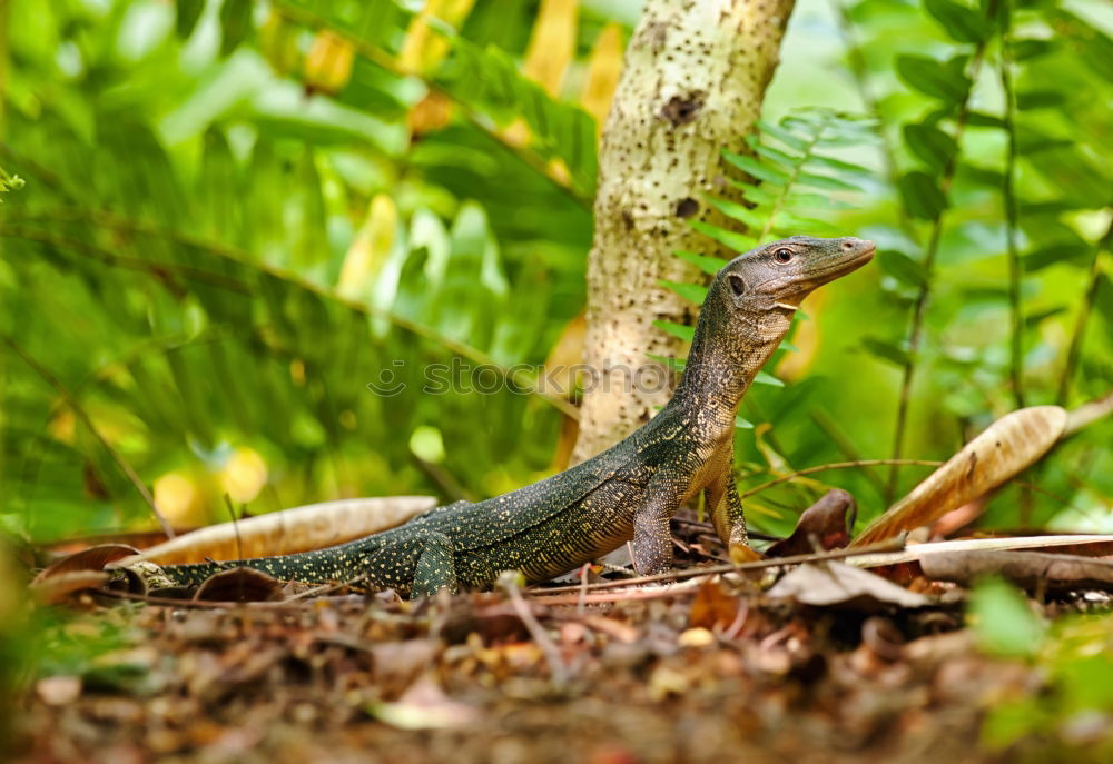
<svg viewBox="0 0 1113 764">
<path fill-rule="evenodd" d="M 707 564 L 686 533 L 679 564 Z M 1040 669 L 979 652 L 958 597 L 883 599 L 808 605 L 737 574 L 416 603 L 81 595 L 59 634 L 111 646 L 27 688 L 14 760 L 1045 761 L 983 725 Z"/>
</svg>

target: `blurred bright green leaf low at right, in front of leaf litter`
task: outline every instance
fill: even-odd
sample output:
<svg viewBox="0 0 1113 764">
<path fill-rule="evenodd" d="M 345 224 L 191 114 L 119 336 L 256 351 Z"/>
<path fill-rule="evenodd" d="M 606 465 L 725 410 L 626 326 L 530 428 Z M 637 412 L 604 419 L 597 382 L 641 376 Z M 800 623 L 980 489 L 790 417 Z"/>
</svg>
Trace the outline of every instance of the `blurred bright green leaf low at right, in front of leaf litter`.
<svg viewBox="0 0 1113 764">
<path fill-rule="evenodd" d="M 978 645 L 991 655 L 1033 655 L 1043 642 L 1044 624 L 1027 597 L 999 578 L 975 586 L 969 616 Z"/>
</svg>

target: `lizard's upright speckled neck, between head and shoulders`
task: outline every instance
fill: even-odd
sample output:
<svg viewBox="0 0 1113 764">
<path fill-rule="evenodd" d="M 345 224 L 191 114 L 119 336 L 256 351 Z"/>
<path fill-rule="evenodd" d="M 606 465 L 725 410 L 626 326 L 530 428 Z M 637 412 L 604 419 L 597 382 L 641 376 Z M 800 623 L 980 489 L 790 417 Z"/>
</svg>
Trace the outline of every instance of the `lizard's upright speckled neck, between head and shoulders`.
<svg viewBox="0 0 1113 764">
<path fill-rule="evenodd" d="M 671 404 L 696 414 L 700 437 L 733 433 L 742 396 L 790 325 L 782 310 L 739 312 L 711 299 L 703 305 Z"/>
</svg>

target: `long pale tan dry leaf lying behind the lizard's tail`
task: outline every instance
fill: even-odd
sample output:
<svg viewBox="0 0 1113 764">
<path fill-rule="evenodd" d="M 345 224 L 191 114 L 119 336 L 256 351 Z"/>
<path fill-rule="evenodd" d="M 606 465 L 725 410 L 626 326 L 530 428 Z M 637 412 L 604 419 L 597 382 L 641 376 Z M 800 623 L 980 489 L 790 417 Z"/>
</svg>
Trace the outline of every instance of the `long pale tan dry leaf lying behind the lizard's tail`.
<svg viewBox="0 0 1113 764">
<path fill-rule="evenodd" d="M 181 565 L 321 549 L 402 525 L 435 505 L 436 499 L 432 496 L 346 498 L 309 504 L 201 528 L 152 546 L 118 565 L 140 560 Z"/>
</svg>

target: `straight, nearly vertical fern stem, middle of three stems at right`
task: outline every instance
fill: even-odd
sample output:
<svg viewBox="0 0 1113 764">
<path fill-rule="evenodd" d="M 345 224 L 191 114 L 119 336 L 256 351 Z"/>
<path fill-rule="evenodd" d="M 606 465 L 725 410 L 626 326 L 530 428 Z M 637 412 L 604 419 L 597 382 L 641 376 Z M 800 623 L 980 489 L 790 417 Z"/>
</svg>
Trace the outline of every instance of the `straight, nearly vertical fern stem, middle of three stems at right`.
<svg viewBox="0 0 1113 764">
<path fill-rule="evenodd" d="M 1008 145 L 1005 155 L 1005 183 L 1002 188 L 1005 205 L 1005 244 L 1008 251 L 1008 307 L 1012 315 L 1012 341 L 1009 344 L 1009 377 L 1013 383 L 1013 400 L 1016 408 L 1024 408 L 1024 314 L 1021 307 L 1021 256 L 1016 246 L 1017 201 L 1014 188 L 1016 175 L 1016 98 L 1013 95 L 1013 59 L 1009 24 L 1012 21 L 1009 0 L 1001 3 L 1001 89 L 1005 97 L 1005 133 Z"/>
</svg>

